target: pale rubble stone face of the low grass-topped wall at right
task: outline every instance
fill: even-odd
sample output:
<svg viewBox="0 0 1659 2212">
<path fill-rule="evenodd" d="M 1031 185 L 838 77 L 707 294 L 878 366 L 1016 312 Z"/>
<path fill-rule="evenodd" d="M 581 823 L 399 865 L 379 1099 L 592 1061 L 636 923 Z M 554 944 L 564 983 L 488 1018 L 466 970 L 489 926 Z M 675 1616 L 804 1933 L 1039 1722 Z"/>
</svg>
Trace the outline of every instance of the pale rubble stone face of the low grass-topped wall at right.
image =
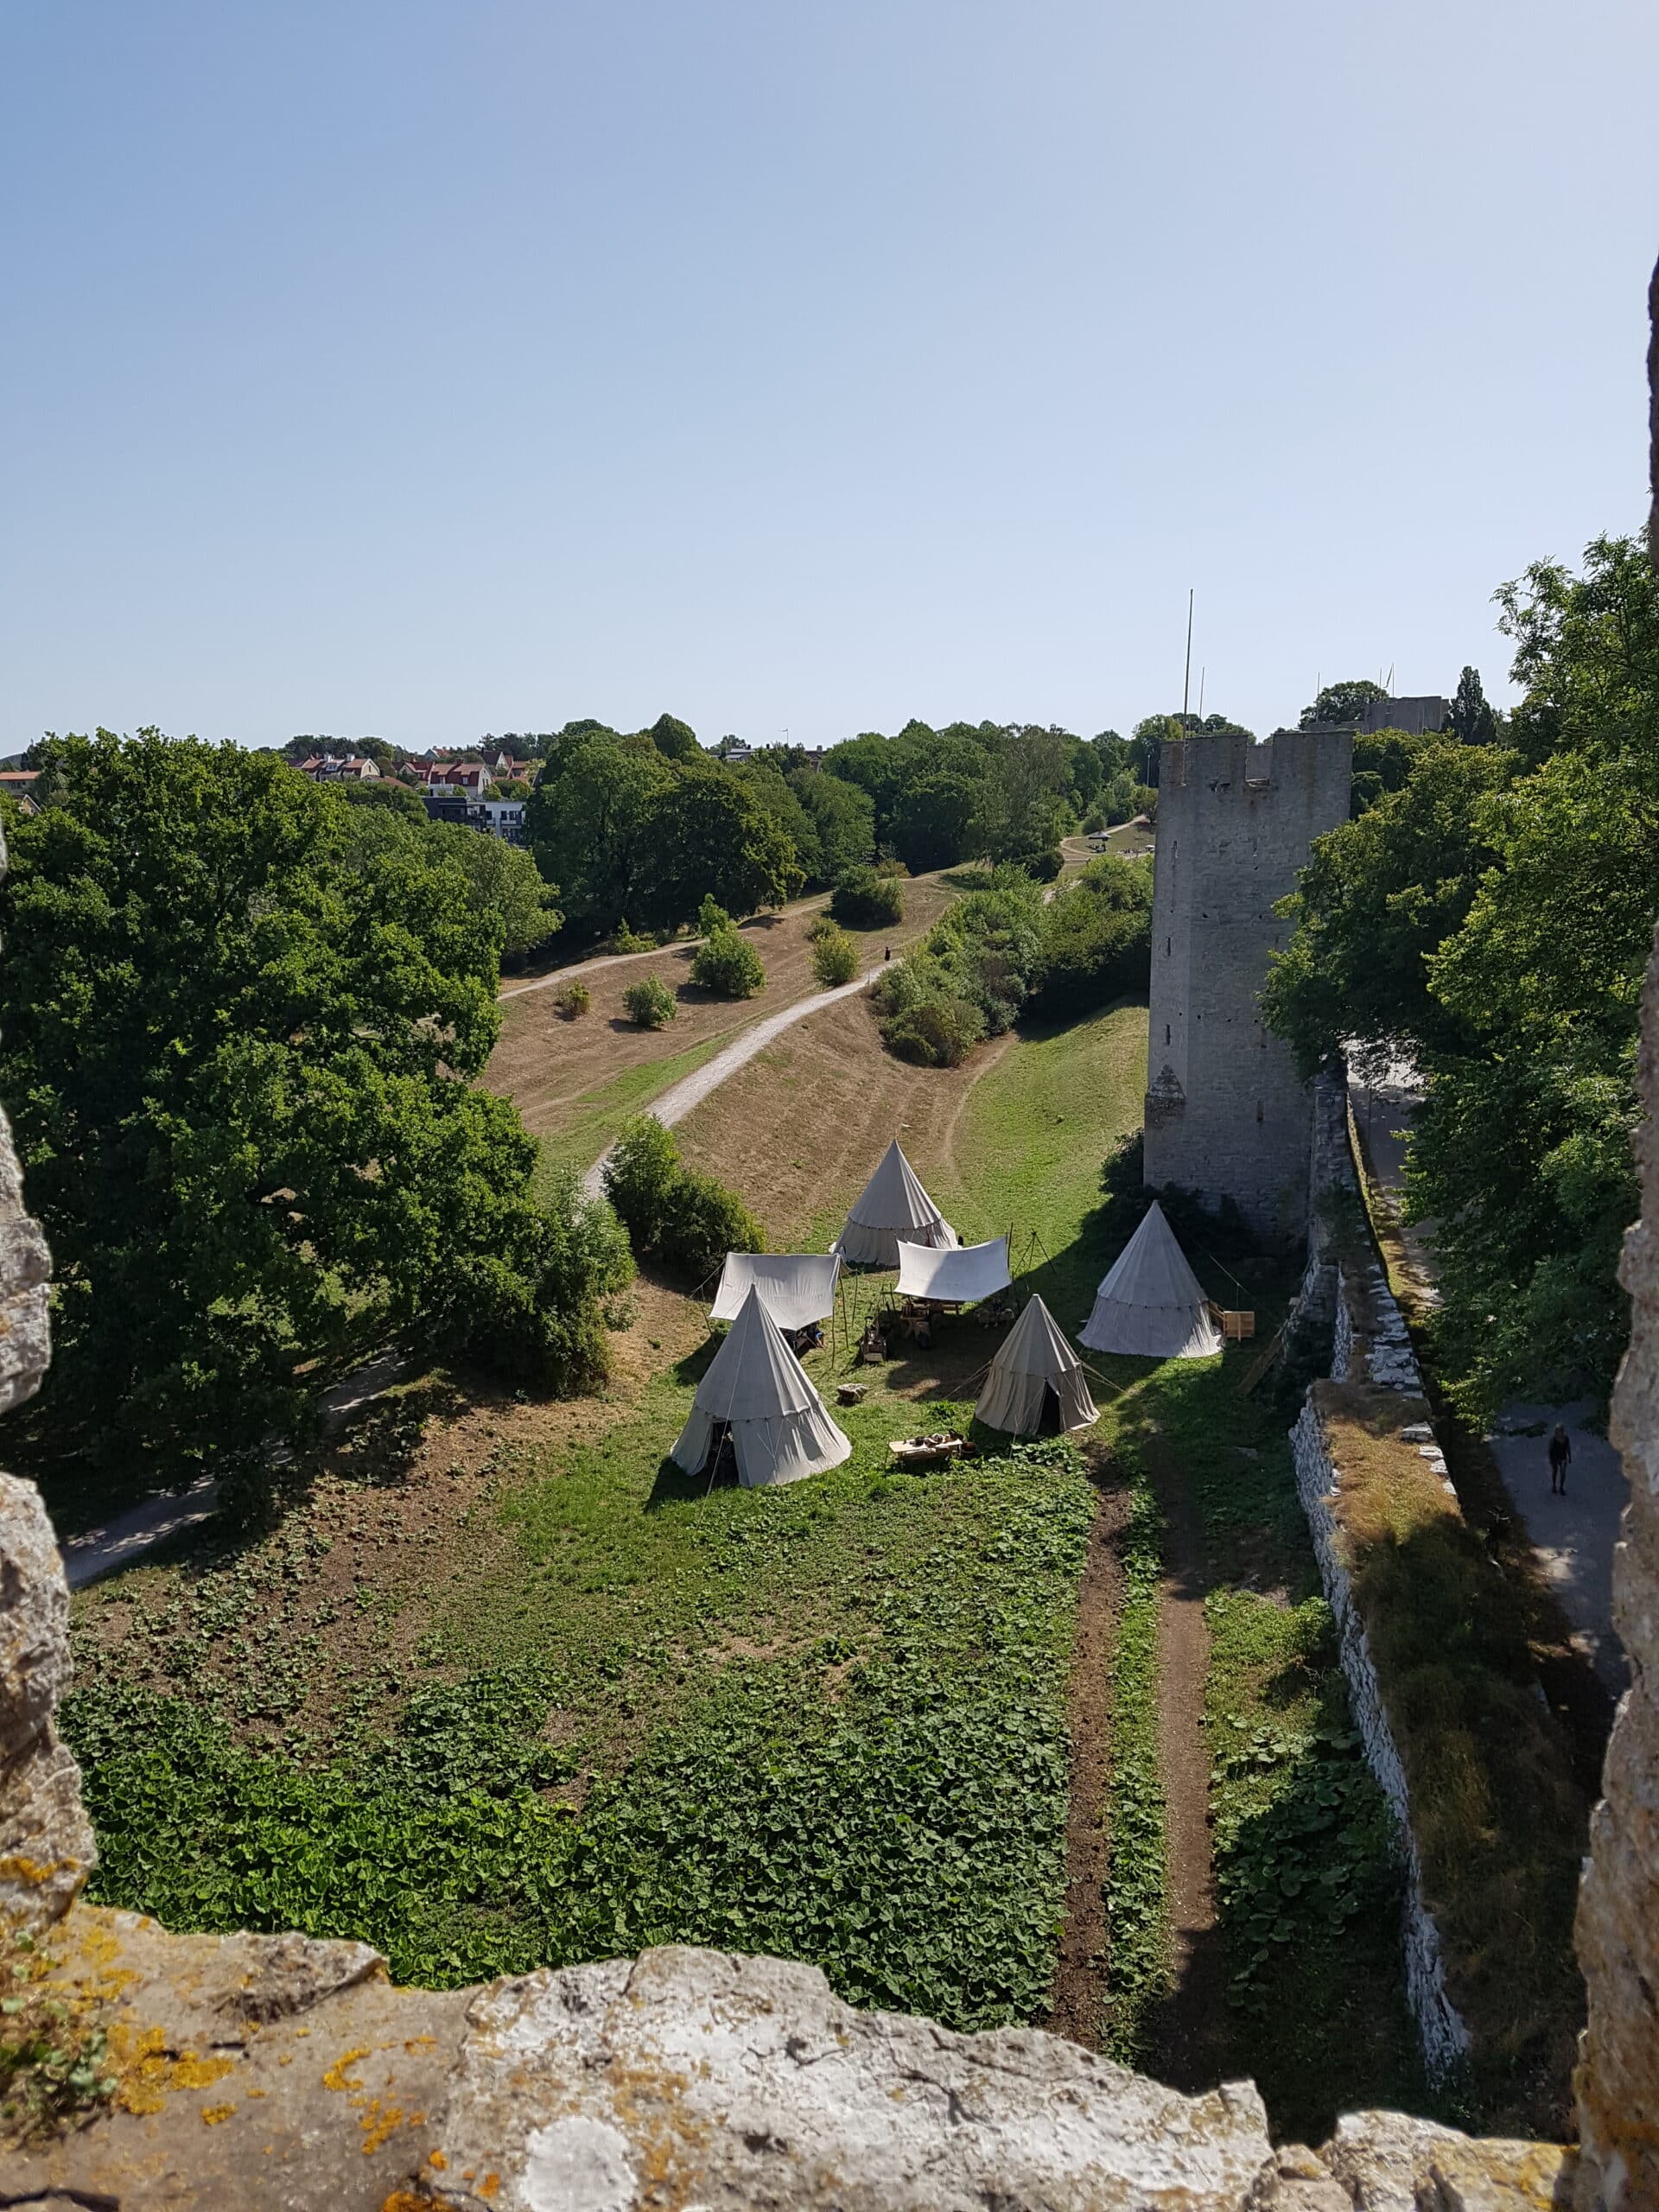
<svg viewBox="0 0 1659 2212">
<path fill-rule="evenodd" d="M 1411 2000 L 1411 2013 L 1418 2022 L 1418 2033 L 1422 2035 L 1422 2057 L 1429 2068 L 1429 2079 L 1433 2081 L 1444 2079 L 1464 2057 L 1469 2051 L 1469 2028 L 1447 1995 L 1440 1929 L 1436 1927 L 1433 1913 L 1422 1896 L 1422 1863 L 1411 1834 L 1411 1792 L 1407 1790 L 1400 1747 L 1396 1745 L 1394 1730 L 1389 1728 L 1389 1714 L 1383 1703 L 1383 1683 L 1378 1681 L 1376 1666 L 1371 1661 L 1365 1626 L 1358 1617 L 1358 1608 L 1354 1606 L 1354 1586 L 1343 1559 L 1336 1515 L 1336 1495 L 1343 1478 L 1332 1453 L 1325 1422 L 1318 1416 L 1316 1398 L 1318 1394 L 1312 1389 L 1296 1427 L 1290 1431 L 1296 1464 L 1296 1495 L 1301 1498 L 1303 1513 L 1307 1515 L 1307 1526 L 1314 1537 L 1314 1553 L 1318 1557 L 1318 1575 L 1325 1586 L 1325 1599 L 1336 1617 L 1336 1639 L 1343 1659 L 1343 1674 L 1347 1679 L 1347 1701 L 1354 1712 L 1354 1725 L 1360 1732 L 1360 1743 L 1365 1745 L 1365 1763 L 1376 1776 L 1383 1796 L 1389 1801 L 1400 1834 L 1400 1854 L 1407 1871 L 1402 1913 L 1405 1986 L 1407 1997 Z"/>
</svg>

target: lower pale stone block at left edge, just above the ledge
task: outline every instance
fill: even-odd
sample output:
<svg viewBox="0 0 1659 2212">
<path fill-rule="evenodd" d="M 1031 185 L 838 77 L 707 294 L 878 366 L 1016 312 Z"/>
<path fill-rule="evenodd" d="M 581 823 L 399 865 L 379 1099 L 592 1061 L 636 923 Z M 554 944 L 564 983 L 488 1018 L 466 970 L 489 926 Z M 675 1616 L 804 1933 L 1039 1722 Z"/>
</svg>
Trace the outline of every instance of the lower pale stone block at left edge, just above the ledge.
<svg viewBox="0 0 1659 2212">
<path fill-rule="evenodd" d="M 33 1482 L 0 1475 L 0 1913 L 58 1920 L 97 1865 L 80 1767 L 53 1714 L 69 1688 L 69 1588 Z"/>
</svg>

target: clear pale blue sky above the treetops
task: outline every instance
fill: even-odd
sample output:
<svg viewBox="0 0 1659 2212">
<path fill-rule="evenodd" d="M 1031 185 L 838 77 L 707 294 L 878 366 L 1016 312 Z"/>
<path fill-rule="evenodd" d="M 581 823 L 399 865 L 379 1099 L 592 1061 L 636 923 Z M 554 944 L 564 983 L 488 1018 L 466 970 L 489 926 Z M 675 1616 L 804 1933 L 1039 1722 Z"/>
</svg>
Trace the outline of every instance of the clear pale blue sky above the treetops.
<svg viewBox="0 0 1659 2212">
<path fill-rule="evenodd" d="M 1254 728 L 1637 524 L 1652 0 L 2 0 L 0 750 Z"/>
</svg>

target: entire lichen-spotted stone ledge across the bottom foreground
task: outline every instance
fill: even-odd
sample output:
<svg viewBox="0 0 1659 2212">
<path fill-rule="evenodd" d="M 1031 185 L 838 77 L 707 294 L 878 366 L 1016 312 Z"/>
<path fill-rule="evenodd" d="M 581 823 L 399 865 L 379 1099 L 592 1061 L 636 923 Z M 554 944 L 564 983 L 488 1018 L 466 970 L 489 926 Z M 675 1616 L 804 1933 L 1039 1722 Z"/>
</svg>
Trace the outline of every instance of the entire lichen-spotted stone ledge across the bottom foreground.
<svg viewBox="0 0 1659 2212">
<path fill-rule="evenodd" d="M 1057 2035 L 856 2013 L 814 1966 L 664 1949 L 434 1995 L 365 1944 L 51 1938 L 115 2108 L 0 2157 L 0 2203 L 246 2212 L 1411 2212 L 1559 2205 L 1571 2154 L 1356 2115 L 1323 2157 L 1256 2090 L 1181 2097 Z"/>
</svg>

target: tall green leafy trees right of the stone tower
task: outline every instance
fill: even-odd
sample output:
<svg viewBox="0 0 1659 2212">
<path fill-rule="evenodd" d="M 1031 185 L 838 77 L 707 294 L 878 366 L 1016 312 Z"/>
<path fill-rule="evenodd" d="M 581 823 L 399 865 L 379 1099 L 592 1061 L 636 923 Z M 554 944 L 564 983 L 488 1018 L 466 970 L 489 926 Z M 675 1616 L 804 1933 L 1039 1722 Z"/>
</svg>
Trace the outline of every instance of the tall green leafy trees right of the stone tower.
<svg viewBox="0 0 1659 2212">
<path fill-rule="evenodd" d="M 1641 973 L 1659 918 L 1659 611 L 1632 540 L 1498 595 L 1517 750 L 1427 739 L 1321 838 L 1263 1006 L 1303 1064 L 1340 1044 L 1427 1079 L 1407 1203 L 1436 1223 L 1444 1369 L 1471 1411 L 1606 1387 L 1635 1210 Z"/>
</svg>

